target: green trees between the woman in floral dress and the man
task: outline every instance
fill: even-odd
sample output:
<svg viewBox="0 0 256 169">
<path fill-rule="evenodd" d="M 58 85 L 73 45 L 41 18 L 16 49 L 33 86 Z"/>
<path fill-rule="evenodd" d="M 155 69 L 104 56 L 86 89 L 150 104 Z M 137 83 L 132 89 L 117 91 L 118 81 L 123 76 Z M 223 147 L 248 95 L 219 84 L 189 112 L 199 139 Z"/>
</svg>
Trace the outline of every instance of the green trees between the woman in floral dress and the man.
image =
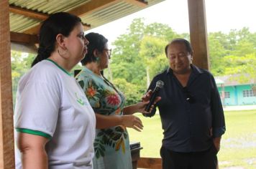
<svg viewBox="0 0 256 169">
<path fill-rule="evenodd" d="M 183 36 L 188 37 L 188 34 Z M 175 37 L 180 35 L 173 32 L 166 24 L 146 25 L 144 19 L 134 19 L 127 33 L 120 35 L 114 42 L 115 48 L 111 60 L 114 81 L 119 79 L 121 82 L 121 79 L 125 79 L 122 82 L 137 85 L 139 89 L 143 89 L 140 90 L 141 97 L 147 82 L 155 75 L 152 71 L 160 72 L 160 69 L 161 71 L 165 69 L 166 66 L 160 67 L 167 65 L 164 56 L 165 45 Z M 137 100 L 140 100 L 140 97 L 138 95 Z"/>
</svg>

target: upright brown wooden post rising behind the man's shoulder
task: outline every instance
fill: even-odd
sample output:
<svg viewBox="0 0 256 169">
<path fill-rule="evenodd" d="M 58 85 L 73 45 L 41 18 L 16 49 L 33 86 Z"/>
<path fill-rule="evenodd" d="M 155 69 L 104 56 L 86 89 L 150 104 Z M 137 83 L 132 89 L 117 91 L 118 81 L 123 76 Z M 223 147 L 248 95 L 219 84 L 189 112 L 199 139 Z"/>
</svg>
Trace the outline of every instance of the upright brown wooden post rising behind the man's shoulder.
<svg viewBox="0 0 256 169">
<path fill-rule="evenodd" d="M 193 64 L 209 69 L 209 53 L 204 0 L 188 0 L 191 44 L 194 50 Z"/>
</svg>

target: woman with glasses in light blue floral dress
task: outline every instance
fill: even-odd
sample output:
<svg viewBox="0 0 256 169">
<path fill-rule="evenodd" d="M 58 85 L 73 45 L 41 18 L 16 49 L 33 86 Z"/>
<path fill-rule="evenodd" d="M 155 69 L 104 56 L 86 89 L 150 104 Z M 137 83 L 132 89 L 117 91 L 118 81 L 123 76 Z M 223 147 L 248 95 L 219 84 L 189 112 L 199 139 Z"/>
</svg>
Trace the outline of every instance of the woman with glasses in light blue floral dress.
<svg viewBox="0 0 256 169">
<path fill-rule="evenodd" d="M 86 34 L 86 39 L 89 41 L 88 53 L 81 61 L 83 69 L 76 78 L 96 113 L 93 168 L 131 169 L 126 127 L 142 130 L 141 120 L 132 114 L 145 113 L 144 108 L 148 102 L 124 107 L 122 92 L 101 74 L 108 67 L 111 57 L 108 40 L 97 33 Z"/>
</svg>

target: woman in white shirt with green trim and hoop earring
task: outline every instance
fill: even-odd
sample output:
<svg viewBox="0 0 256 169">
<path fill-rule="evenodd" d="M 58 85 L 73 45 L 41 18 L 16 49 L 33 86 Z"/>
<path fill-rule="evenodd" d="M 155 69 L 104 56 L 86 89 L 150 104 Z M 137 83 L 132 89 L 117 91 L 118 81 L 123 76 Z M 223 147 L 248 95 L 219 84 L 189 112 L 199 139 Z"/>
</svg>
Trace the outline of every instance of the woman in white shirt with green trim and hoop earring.
<svg viewBox="0 0 256 169">
<path fill-rule="evenodd" d="M 52 14 L 39 38 L 38 55 L 17 91 L 16 168 L 91 169 L 95 115 L 69 73 L 87 52 L 81 19 Z"/>
</svg>

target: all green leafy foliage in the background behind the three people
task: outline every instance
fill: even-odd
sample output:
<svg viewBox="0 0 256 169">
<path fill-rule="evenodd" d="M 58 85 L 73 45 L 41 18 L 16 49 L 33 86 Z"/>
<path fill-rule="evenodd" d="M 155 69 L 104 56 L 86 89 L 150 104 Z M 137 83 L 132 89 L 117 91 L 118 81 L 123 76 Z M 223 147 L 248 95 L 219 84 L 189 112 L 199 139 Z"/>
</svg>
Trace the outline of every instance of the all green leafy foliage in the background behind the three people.
<svg viewBox="0 0 256 169">
<path fill-rule="evenodd" d="M 127 32 L 113 43 L 111 64 L 104 74 L 124 92 L 127 105 L 139 101 L 152 78 L 168 68 L 164 48 L 170 40 L 180 37 L 189 40 L 189 34 L 178 34 L 166 24 L 145 24 L 134 19 Z M 256 33 L 248 28 L 209 33 L 209 57 L 214 76 L 240 74 L 240 82 L 254 79 L 256 83 Z M 19 78 L 27 72 L 33 54 L 23 56 L 12 51 L 13 91 Z M 81 69 L 78 64 L 74 69 Z"/>
</svg>

